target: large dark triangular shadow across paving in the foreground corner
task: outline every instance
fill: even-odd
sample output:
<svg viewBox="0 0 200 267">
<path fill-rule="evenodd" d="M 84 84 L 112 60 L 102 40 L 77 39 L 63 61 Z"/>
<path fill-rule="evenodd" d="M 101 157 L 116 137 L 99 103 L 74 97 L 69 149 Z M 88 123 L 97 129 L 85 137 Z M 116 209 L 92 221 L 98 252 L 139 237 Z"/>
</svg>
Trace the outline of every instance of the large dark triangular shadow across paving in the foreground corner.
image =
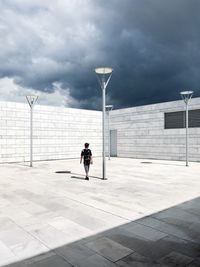
<svg viewBox="0 0 200 267">
<path fill-rule="evenodd" d="M 200 266 L 200 198 L 6 266 Z"/>
</svg>

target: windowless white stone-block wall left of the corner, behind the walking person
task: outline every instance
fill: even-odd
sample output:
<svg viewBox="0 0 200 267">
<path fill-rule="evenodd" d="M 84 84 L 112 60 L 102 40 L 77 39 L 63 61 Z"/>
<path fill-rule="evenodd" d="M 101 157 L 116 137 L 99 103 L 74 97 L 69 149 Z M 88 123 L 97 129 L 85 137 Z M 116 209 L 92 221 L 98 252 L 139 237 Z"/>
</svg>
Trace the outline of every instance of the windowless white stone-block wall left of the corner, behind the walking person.
<svg viewBox="0 0 200 267">
<path fill-rule="evenodd" d="M 33 159 L 77 158 L 85 142 L 101 155 L 99 111 L 41 106 L 33 116 Z M 30 108 L 28 104 L 0 102 L 0 163 L 29 161 Z"/>
</svg>

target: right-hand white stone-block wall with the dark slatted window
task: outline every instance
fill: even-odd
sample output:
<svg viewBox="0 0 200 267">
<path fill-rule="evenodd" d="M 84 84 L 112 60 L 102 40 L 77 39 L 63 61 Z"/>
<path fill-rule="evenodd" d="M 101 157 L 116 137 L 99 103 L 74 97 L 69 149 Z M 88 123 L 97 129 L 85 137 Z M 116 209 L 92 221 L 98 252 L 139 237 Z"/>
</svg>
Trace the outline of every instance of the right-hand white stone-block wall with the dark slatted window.
<svg viewBox="0 0 200 267">
<path fill-rule="evenodd" d="M 185 129 L 164 129 L 164 113 L 184 109 L 180 100 L 111 111 L 118 157 L 185 160 Z M 191 100 L 190 109 L 200 109 L 200 98 Z M 200 128 L 189 133 L 189 159 L 200 161 Z"/>
</svg>

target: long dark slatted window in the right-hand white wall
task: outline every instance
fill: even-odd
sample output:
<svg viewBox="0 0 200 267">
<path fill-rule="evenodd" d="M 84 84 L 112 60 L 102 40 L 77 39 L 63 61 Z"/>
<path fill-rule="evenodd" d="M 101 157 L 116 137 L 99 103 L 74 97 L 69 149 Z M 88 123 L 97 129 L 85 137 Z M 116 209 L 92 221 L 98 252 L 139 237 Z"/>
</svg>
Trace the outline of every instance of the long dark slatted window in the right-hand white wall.
<svg viewBox="0 0 200 267">
<path fill-rule="evenodd" d="M 167 112 L 165 115 L 165 129 L 185 128 L 185 111 Z M 189 110 L 188 126 L 200 127 L 200 109 Z"/>
</svg>

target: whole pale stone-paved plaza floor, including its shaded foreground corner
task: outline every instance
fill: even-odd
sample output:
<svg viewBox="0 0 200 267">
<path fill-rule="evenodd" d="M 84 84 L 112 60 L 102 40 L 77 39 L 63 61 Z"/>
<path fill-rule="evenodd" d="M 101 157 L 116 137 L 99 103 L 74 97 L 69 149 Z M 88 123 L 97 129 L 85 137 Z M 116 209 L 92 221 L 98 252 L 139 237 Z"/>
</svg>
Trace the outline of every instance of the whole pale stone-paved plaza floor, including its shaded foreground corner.
<svg viewBox="0 0 200 267">
<path fill-rule="evenodd" d="M 0 165 L 0 266 L 200 266 L 200 163 L 111 158 L 107 178 Z"/>
</svg>

